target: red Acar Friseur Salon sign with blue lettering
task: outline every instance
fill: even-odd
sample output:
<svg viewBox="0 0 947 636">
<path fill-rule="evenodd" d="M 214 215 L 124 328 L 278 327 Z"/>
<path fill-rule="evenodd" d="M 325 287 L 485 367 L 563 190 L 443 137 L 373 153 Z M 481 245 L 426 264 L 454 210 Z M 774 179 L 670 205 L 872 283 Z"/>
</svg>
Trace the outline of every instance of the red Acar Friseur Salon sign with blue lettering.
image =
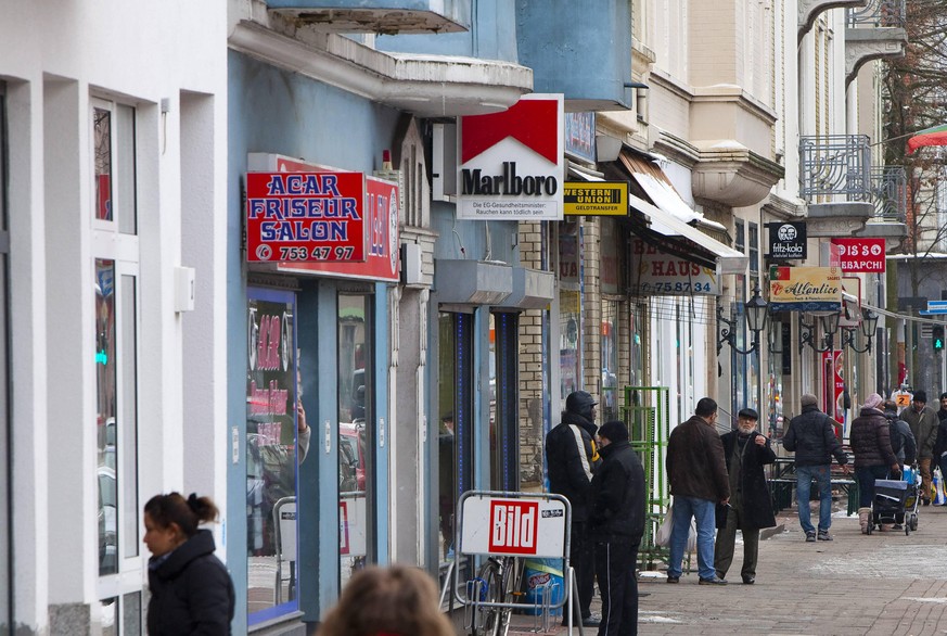
<svg viewBox="0 0 947 636">
<path fill-rule="evenodd" d="M 247 173 L 247 260 L 364 260 L 363 196 L 361 173 Z"/>
</svg>

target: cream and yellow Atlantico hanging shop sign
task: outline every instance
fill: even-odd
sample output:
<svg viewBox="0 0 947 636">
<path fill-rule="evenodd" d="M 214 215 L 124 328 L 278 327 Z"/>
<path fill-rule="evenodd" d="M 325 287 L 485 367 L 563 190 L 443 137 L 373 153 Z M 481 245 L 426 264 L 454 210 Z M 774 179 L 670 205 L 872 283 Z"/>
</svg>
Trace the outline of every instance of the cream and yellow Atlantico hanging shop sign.
<svg viewBox="0 0 947 636">
<path fill-rule="evenodd" d="M 769 301 L 773 311 L 837 311 L 842 308 L 842 269 L 770 267 Z"/>
</svg>

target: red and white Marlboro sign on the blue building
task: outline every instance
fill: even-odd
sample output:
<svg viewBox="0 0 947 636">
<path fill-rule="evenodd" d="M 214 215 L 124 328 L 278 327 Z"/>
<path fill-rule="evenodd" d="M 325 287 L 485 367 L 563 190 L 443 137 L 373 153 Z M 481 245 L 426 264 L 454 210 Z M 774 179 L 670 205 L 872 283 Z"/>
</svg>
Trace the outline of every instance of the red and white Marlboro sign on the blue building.
<svg viewBox="0 0 947 636">
<path fill-rule="evenodd" d="M 458 218 L 562 219 L 563 98 L 460 118 Z"/>
</svg>

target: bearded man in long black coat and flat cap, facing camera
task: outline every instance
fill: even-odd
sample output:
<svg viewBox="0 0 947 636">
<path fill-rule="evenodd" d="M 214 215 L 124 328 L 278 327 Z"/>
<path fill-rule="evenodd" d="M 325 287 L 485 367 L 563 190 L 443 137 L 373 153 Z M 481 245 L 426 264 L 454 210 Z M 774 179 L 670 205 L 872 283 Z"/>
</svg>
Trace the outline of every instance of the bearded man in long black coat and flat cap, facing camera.
<svg viewBox="0 0 947 636">
<path fill-rule="evenodd" d="M 727 471 L 730 475 L 730 504 L 717 507 L 717 543 L 714 546 L 714 568 L 717 576 L 727 577 L 733 562 L 737 530 L 743 533 L 743 583 L 756 582 L 756 557 L 759 530 L 776 525 L 772 503 L 763 467 L 776 461 L 776 453 L 765 435 L 756 432 L 759 414 L 744 408 L 737 414 L 737 430 L 720 435 Z"/>
</svg>

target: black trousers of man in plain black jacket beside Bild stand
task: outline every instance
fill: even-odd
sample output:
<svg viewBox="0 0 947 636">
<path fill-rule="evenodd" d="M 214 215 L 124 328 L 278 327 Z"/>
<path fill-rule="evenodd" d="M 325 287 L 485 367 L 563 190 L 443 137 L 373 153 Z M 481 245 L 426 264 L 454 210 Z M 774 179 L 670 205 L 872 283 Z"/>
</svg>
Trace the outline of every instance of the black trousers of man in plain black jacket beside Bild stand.
<svg viewBox="0 0 947 636">
<path fill-rule="evenodd" d="M 638 634 L 638 544 L 630 539 L 596 543 L 596 577 L 602 594 L 599 636 Z"/>
</svg>

